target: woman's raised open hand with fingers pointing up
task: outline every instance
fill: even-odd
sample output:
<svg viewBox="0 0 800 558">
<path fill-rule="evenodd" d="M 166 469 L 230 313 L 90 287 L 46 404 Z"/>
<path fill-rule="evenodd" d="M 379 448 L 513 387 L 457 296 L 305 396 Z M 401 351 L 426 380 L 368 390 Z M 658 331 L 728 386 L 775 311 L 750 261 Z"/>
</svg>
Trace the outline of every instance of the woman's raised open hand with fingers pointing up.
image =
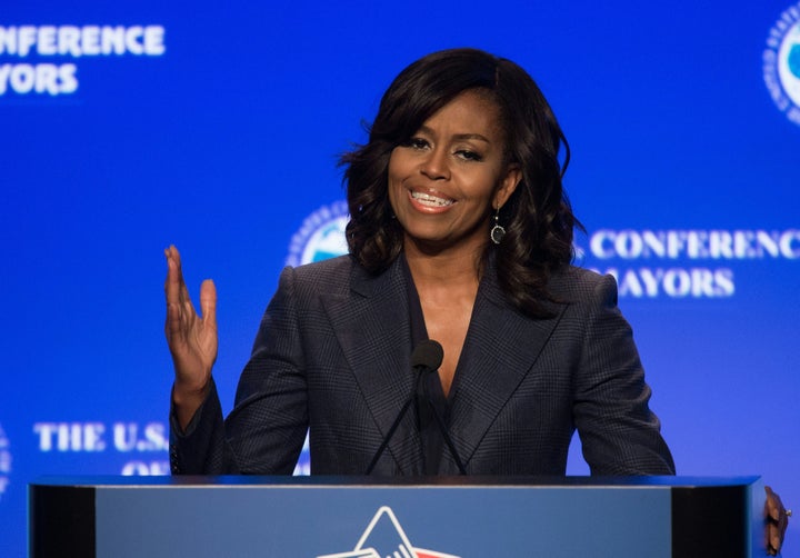
<svg viewBox="0 0 800 558">
<path fill-rule="evenodd" d="M 200 408 L 211 385 L 211 368 L 217 360 L 217 288 L 206 279 L 200 286 L 198 316 L 181 271 L 180 253 L 174 246 L 167 257 L 167 322 L 164 332 L 172 355 L 176 379 L 172 401 L 178 422 L 186 429 Z"/>
</svg>

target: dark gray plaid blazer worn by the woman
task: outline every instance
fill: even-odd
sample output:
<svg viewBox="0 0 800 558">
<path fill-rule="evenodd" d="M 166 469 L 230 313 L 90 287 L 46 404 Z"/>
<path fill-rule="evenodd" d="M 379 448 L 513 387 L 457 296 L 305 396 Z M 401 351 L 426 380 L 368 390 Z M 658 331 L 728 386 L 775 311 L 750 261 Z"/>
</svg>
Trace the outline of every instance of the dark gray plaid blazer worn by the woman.
<svg viewBox="0 0 800 558">
<path fill-rule="evenodd" d="M 673 474 L 613 279 L 570 268 L 550 289 L 557 316 L 530 319 L 484 273 L 449 395 L 468 474 L 563 475 L 576 429 L 593 475 Z M 312 474 L 363 475 L 413 389 L 409 315 L 399 261 L 284 269 L 228 418 L 216 389 L 186 432 L 172 417 L 172 471 L 291 474 L 308 430 Z M 420 475 L 422 460 L 408 412 L 373 472 Z M 439 470 L 458 474 L 447 448 Z"/>
</svg>

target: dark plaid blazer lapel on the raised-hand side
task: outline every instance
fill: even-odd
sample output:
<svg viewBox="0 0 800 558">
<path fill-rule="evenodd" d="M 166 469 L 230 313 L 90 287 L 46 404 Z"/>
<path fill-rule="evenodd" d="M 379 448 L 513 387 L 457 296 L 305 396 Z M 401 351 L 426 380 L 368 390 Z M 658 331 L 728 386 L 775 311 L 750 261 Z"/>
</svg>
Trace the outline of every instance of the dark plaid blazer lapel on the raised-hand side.
<svg viewBox="0 0 800 558">
<path fill-rule="evenodd" d="M 401 265 L 398 258 L 377 277 L 353 266 L 350 292 L 343 297 L 323 297 L 344 358 L 381 437 L 387 436 L 413 389 L 411 327 Z M 400 474 L 413 475 L 421 470 L 421 441 L 411 409 L 386 452 L 394 458 Z"/>
</svg>

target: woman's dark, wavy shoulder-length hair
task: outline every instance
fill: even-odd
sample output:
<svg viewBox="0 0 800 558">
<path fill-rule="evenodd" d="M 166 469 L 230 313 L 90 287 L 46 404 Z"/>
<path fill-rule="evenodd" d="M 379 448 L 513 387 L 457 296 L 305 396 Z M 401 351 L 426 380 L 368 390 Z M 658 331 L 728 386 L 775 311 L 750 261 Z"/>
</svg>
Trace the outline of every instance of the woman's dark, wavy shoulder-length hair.
<svg viewBox="0 0 800 558">
<path fill-rule="evenodd" d="M 582 229 L 561 185 L 569 146 L 531 77 L 514 62 L 481 50 L 443 50 L 406 68 L 383 94 L 368 143 L 342 156 L 350 253 L 373 273 L 398 257 L 403 233 L 389 203 L 391 152 L 467 90 L 479 90 L 499 107 L 503 156 L 522 176 L 500 210 L 506 236 L 499 245 L 487 243 L 481 265 L 493 250 L 500 287 L 511 303 L 531 317 L 550 316 L 542 303 L 553 301 L 548 280 L 572 261 L 573 229 Z M 562 146 L 563 167 L 559 163 Z"/>
</svg>

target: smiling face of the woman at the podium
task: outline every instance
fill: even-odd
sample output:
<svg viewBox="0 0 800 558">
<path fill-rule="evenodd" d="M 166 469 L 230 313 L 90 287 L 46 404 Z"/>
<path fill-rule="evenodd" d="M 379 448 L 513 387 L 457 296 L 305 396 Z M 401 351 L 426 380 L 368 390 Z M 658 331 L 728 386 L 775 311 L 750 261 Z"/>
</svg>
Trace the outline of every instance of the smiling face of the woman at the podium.
<svg viewBox="0 0 800 558">
<path fill-rule="evenodd" d="M 464 91 L 430 117 L 389 159 L 389 200 L 406 245 L 479 251 L 489 219 L 521 173 L 503 163 L 503 131 L 493 101 Z"/>
</svg>

